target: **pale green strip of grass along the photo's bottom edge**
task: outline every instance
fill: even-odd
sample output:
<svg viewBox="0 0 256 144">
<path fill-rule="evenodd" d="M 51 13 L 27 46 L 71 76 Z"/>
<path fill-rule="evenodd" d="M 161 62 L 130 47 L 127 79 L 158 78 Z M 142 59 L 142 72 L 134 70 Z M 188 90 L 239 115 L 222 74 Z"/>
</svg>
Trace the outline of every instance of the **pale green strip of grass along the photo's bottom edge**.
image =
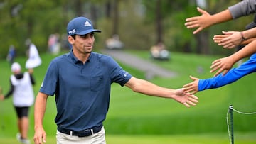
<svg viewBox="0 0 256 144">
<path fill-rule="evenodd" d="M 237 133 L 236 144 L 254 144 L 256 133 Z M 31 141 L 33 141 L 31 139 Z M 107 143 L 111 144 L 228 144 L 230 140 L 227 133 L 206 133 L 199 135 L 106 135 Z M 1 138 L 0 143 L 16 144 L 15 138 Z M 55 137 L 47 137 L 46 143 L 56 143 Z"/>
</svg>

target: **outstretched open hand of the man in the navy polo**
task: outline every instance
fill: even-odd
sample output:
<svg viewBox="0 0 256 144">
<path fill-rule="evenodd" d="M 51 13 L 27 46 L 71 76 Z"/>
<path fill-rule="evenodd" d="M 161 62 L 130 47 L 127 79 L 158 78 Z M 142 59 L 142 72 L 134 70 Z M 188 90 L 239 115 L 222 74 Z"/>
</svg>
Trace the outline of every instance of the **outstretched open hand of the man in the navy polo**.
<svg viewBox="0 0 256 144">
<path fill-rule="evenodd" d="M 176 89 L 176 96 L 174 96 L 174 99 L 188 108 L 190 106 L 196 106 L 198 103 L 198 97 L 193 94 L 186 93 L 184 90 L 184 88 Z"/>
</svg>

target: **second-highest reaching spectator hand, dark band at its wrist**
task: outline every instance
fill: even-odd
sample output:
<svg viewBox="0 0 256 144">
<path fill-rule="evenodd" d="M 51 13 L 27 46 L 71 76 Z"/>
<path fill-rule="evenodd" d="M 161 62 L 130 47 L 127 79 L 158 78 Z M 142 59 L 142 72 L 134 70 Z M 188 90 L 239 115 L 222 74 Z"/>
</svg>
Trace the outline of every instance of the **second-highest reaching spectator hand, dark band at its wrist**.
<svg viewBox="0 0 256 144">
<path fill-rule="evenodd" d="M 223 35 L 214 35 L 214 43 L 223 46 L 223 48 L 235 48 L 242 43 L 242 36 L 239 31 L 222 31 Z"/>
</svg>

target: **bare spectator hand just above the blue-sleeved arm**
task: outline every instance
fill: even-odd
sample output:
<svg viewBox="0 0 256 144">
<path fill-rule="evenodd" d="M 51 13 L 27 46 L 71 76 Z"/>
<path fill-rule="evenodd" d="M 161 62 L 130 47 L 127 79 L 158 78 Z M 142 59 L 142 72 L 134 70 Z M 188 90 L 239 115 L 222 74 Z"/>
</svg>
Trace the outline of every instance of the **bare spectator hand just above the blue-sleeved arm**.
<svg viewBox="0 0 256 144">
<path fill-rule="evenodd" d="M 217 71 L 214 74 L 214 77 L 223 72 L 223 75 L 225 75 L 235 64 L 232 57 L 223 57 L 218 60 L 213 61 L 212 65 L 210 66 L 210 72 L 213 73 Z"/>
</svg>

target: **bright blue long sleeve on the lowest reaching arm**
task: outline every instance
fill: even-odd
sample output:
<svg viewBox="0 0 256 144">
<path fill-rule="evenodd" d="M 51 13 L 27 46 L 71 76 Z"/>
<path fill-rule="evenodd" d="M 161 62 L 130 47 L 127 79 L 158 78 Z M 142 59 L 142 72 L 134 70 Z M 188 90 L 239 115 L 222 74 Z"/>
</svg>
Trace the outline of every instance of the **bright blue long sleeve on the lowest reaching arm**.
<svg viewBox="0 0 256 144">
<path fill-rule="evenodd" d="M 240 65 L 240 67 L 233 68 L 230 71 L 228 71 L 228 73 L 224 76 L 223 74 L 218 74 L 218 76 L 212 77 L 210 79 L 200 79 L 198 82 L 198 91 L 223 87 L 255 71 L 256 54 L 252 55 L 250 59 L 247 60 L 247 62 L 244 62 L 242 65 Z"/>
</svg>

